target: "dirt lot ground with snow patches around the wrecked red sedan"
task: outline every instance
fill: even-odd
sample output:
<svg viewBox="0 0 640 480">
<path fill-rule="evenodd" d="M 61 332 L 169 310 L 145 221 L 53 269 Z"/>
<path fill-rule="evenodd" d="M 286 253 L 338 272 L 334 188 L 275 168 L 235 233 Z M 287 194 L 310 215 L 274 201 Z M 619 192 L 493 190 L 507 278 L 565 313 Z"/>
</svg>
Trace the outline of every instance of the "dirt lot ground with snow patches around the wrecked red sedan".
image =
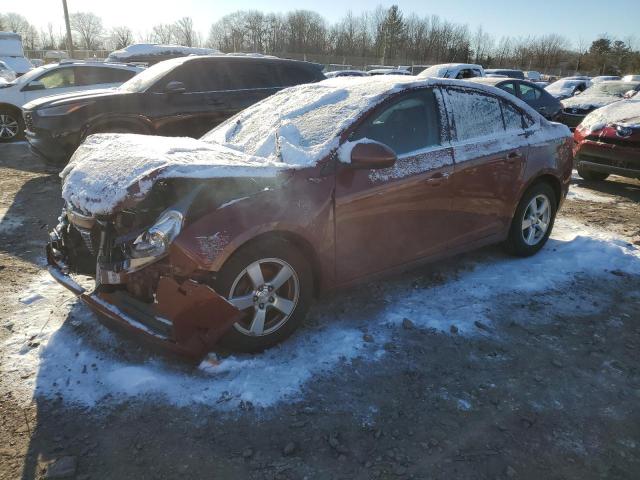
<svg viewBox="0 0 640 480">
<path fill-rule="evenodd" d="M 198 368 L 43 272 L 59 180 L 0 146 L 0 479 L 640 478 L 640 183 L 576 180 L 541 254 L 322 299 Z"/>
</svg>

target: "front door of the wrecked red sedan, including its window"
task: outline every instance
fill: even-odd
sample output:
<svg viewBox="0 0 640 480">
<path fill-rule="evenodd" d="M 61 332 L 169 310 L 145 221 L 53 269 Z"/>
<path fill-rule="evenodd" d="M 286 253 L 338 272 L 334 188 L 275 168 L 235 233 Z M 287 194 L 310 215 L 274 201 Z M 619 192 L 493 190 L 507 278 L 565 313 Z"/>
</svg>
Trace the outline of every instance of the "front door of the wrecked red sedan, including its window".
<svg viewBox="0 0 640 480">
<path fill-rule="evenodd" d="M 336 278 L 340 283 L 445 247 L 453 171 L 445 124 L 440 92 L 424 89 L 378 107 L 349 138 L 384 143 L 396 152 L 398 161 L 381 170 L 338 166 Z"/>
</svg>

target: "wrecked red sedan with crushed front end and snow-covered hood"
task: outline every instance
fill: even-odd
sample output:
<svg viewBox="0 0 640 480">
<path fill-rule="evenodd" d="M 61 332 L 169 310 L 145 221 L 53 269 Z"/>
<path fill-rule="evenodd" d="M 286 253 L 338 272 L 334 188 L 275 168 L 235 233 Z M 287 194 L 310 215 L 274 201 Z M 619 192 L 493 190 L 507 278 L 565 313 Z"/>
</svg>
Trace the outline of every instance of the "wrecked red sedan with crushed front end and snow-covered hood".
<svg viewBox="0 0 640 480">
<path fill-rule="evenodd" d="M 61 174 L 50 271 L 176 352 L 259 351 L 328 290 L 491 243 L 535 254 L 571 168 L 569 130 L 496 88 L 331 79 L 200 140 L 89 137 Z"/>
</svg>

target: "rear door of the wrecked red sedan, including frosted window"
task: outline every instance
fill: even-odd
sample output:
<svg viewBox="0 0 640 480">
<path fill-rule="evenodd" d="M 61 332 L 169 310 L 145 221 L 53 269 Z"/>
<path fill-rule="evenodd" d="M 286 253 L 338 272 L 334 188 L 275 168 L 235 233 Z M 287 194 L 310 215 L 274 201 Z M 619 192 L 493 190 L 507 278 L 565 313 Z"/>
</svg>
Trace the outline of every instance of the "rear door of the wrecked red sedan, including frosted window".
<svg viewBox="0 0 640 480">
<path fill-rule="evenodd" d="M 448 87 L 455 169 L 452 244 L 503 233 L 528 151 L 521 112 L 494 95 Z"/>
</svg>

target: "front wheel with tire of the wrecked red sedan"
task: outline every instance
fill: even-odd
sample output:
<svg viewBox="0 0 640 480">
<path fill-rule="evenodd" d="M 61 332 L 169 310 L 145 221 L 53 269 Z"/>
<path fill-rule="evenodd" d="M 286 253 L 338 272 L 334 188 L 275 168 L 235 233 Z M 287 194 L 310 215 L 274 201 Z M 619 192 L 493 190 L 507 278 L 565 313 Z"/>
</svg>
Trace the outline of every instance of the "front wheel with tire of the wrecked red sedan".
<svg viewBox="0 0 640 480">
<path fill-rule="evenodd" d="M 224 264 L 215 286 L 244 313 L 222 343 L 256 352 L 283 341 L 300 326 L 311 303 L 313 276 L 290 242 L 257 239 Z"/>
</svg>

